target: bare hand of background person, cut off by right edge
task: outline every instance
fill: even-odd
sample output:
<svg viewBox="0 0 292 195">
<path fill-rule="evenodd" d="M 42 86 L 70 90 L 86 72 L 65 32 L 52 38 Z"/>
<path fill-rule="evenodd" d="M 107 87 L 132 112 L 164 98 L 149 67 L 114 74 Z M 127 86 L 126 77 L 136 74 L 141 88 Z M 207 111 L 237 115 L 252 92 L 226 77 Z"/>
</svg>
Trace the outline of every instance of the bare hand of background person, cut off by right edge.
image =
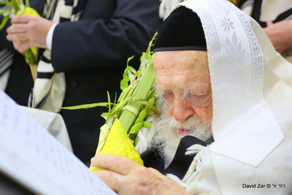
<svg viewBox="0 0 292 195">
<path fill-rule="evenodd" d="M 292 51 L 292 20 L 282 20 L 277 23 L 267 21 L 267 27 L 263 30 L 279 54 L 284 55 Z"/>
</svg>

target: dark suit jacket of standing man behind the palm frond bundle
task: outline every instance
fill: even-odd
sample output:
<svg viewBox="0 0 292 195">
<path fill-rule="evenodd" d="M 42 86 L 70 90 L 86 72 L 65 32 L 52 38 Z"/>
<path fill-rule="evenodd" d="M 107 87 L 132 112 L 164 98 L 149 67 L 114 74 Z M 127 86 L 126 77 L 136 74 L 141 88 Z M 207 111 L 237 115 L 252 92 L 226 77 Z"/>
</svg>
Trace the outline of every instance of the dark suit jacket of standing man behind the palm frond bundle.
<svg viewBox="0 0 292 195">
<path fill-rule="evenodd" d="M 43 3 L 31 0 L 36 8 Z M 107 91 L 112 102 L 115 93 L 119 97 L 128 57 L 135 55 L 130 65 L 137 69 L 142 52 L 162 23 L 158 9 L 159 0 L 78 1 L 79 21 L 60 23 L 53 33 L 51 62 L 66 77 L 63 106 L 107 102 Z M 84 163 L 95 155 L 105 123 L 100 114 L 107 111 L 96 107 L 60 112 L 74 154 Z"/>
</svg>

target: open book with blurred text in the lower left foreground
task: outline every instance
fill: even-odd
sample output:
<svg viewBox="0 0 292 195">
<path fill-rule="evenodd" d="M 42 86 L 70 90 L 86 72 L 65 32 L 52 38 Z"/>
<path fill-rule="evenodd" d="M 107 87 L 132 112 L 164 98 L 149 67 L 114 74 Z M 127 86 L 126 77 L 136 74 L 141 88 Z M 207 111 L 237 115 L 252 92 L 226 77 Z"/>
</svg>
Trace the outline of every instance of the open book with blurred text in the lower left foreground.
<svg viewBox="0 0 292 195">
<path fill-rule="evenodd" d="M 116 194 L 0 90 L 0 183 L 3 186 L 2 178 L 9 178 L 15 182 L 15 188 L 21 187 L 30 194 Z M 14 194 L 9 189 L 6 191 L 5 194 Z"/>
</svg>

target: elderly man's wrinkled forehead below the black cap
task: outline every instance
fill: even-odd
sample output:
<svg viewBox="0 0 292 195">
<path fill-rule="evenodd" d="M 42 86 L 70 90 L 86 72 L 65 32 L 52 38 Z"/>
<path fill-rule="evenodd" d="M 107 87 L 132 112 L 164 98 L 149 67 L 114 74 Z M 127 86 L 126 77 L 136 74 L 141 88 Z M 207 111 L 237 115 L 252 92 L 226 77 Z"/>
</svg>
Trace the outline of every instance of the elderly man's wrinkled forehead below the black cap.
<svg viewBox="0 0 292 195">
<path fill-rule="evenodd" d="M 158 51 L 153 65 L 158 90 L 211 87 L 207 51 Z"/>
</svg>

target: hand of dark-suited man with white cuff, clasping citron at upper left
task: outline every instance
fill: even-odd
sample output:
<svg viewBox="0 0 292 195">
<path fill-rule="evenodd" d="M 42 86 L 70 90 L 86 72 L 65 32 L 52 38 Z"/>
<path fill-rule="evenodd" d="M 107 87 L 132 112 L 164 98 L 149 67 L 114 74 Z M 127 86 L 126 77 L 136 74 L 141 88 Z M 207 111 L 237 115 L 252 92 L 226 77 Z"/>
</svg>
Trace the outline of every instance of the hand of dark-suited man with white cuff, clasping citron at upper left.
<svg viewBox="0 0 292 195">
<path fill-rule="evenodd" d="M 32 46 L 46 49 L 46 37 L 53 24 L 51 20 L 41 17 L 16 15 L 6 30 L 6 38 L 12 41 L 14 48 L 22 54 Z"/>
</svg>

